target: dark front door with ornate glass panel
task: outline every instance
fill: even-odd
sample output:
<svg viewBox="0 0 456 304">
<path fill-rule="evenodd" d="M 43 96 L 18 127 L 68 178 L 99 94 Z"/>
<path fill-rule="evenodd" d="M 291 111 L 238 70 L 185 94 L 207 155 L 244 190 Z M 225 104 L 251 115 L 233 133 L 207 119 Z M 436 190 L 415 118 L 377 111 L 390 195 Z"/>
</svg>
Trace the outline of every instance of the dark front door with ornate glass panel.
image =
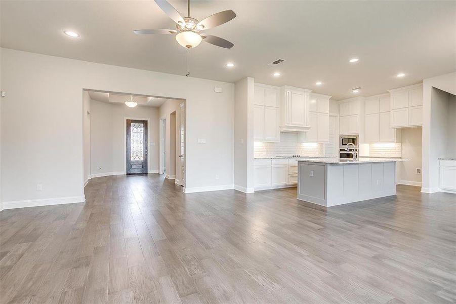
<svg viewBox="0 0 456 304">
<path fill-rule="evenodd" d="M 147 121 L 127 120 L 127 174 L 147 173 Z"/>
</svg>

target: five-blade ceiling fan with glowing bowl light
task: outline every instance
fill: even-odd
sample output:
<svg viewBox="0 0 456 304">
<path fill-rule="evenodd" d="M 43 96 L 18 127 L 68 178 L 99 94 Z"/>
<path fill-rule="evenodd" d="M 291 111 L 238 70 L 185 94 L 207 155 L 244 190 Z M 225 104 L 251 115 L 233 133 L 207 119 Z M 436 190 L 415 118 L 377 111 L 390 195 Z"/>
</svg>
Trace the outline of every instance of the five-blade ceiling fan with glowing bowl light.
<svg viewBox="0 0 456 304">
<path fill-rule="evenodd" d="M 188 16 L 182 17 L 179 12 L 166 0 L 155 0 L 155 3 L 160 9 L 168 15 L 174 22 L 177 23 L 176 29 L 137 29 L 134 30 L 136 34 L 151 35 L 151 34 L 177 34 L 177 42 L 184 48 L 191 49 L 198 46 L 201 41 L 213 44 L 218 47 L 231 49 L 234 44 L 220 38 L 218 36 L 201 33 L 202 30 L 210 29 L 221 24 L 224 24 L 234 17 L 236 14 L 232 10 L 211 15 L 201 21 L 190 17 L 190 0 L 187 1 Z"/>
</svg>

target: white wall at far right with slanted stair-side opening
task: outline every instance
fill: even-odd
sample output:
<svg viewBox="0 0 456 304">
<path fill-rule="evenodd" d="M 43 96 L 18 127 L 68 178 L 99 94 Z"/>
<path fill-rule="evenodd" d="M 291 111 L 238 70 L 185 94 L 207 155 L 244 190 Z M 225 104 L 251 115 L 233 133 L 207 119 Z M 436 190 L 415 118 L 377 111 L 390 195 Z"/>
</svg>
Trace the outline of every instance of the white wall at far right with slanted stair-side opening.
<svg viewBox="0 0 456 304">
<path fill-rule="evenodd" d="M 456 72 L 423 80 L 423 185 L 422 192 L 439 191 L 439 166 L 437 158 L 441 155 L 439 133 L 446 130 L 441 121 L 446 120 L 446 110 L 433 94 L 435 88 L 456 95 Z M 434 98 L 437 96 L 437 98 Z"/>
</svg>

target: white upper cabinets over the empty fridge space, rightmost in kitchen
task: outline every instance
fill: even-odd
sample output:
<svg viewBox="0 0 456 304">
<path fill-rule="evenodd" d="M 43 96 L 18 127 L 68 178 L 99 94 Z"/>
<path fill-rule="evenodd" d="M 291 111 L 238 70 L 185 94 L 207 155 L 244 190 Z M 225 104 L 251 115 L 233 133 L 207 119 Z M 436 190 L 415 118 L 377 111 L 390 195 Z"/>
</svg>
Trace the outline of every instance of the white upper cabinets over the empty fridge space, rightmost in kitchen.
<svg viewBox="0 0 456 304">
<path fill-rule="evenodd" d="M 423 125 L 423 84 L 389 90 L 389 92 L 393 128 Z"/>
</svg>

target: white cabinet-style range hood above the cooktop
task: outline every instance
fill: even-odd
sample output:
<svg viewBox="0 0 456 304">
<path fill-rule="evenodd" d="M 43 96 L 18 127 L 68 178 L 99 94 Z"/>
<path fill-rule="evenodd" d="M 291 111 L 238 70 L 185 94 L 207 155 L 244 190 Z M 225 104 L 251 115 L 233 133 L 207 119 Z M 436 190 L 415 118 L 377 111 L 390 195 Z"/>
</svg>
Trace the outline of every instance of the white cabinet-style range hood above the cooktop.
<svg viewBox="0 0 456 304">
<path fill-rule="evenodd" d="M 308 131 L 310 90 L 289 86 L 281 88 L 280 130 L 288 132 Z"/>
</svg>

